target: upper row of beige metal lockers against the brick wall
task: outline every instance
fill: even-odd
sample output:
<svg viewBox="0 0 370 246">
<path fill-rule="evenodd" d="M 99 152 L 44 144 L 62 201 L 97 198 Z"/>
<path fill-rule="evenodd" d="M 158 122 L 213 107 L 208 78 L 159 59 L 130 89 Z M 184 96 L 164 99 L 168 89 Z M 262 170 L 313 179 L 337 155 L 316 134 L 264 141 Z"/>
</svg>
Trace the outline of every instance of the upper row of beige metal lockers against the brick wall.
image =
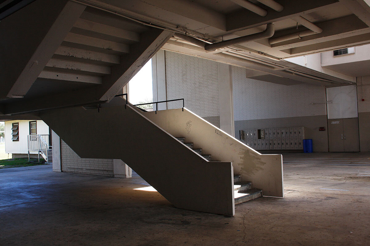
<svg viewBox="0 0 370 246">
<path fill-rule="evenodd" d="M 305 139 L 304 127 L 283 127 L 283 128 L 265 128 L 249 129 L 239 131 L 240 140 L 248 139 Z"/>
</svg>

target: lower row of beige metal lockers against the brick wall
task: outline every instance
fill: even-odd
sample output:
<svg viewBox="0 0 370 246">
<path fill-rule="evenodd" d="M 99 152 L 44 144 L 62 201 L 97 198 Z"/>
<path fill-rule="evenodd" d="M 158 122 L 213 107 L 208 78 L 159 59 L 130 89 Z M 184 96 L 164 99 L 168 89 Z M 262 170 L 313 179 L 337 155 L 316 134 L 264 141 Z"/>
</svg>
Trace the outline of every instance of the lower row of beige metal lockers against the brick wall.
<svg viewBox="0 0 370 246">
<path fill-rule="evenodd" d="M 302 138 L 241 140 L 252 149 L 303 149 Z"/>
</svg>

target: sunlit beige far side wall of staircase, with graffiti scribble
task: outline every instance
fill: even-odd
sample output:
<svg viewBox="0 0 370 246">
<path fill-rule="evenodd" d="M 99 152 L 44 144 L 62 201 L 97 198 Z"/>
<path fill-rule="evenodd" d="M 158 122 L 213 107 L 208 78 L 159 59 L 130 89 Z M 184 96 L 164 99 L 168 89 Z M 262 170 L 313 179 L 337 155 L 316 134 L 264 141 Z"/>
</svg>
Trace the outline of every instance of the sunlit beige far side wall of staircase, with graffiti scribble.
<svg viewBox="0 0 370 246">
<path fill-rule="evenodd" d="M 240 180 L 251 181 L 263 195 L 283 197 L 282 155 L 261 155 L 186 108 L 142 114 L 173 136 L 194 142 L 194 148 L 202 148 L 213 160 L 232 162 Z"/>
</svg>

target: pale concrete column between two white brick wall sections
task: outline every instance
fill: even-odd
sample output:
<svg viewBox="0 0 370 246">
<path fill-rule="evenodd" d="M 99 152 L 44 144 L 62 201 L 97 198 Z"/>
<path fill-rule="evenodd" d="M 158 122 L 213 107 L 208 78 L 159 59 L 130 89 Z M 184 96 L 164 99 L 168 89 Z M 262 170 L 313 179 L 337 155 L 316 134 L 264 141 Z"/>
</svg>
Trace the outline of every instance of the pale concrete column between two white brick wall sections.
<svg viewBox="0 0 370 246">
<path fill-rule="evenodd" d="M 235 136 L 231 66 L 224 63 L 218 63 L 217 67 L 220 104 L 220 128 L 231 136 Z"/>
</svg>

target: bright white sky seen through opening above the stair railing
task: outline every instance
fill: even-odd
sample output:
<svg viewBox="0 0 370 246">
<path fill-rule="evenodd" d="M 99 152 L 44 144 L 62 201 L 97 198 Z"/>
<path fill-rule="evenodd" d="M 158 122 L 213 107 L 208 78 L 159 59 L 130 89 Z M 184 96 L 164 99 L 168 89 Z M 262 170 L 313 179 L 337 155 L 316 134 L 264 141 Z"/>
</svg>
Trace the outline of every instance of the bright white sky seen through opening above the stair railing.
<svg viewBox="0 0 370 246">
<path fill-rule="evenodd" d="M 129 102 L 132 104 L 138 104 L 140 102 L 151 103 L 153 101 L 151 59 L 130 80 L 128 94 Z"/>
</svg>

